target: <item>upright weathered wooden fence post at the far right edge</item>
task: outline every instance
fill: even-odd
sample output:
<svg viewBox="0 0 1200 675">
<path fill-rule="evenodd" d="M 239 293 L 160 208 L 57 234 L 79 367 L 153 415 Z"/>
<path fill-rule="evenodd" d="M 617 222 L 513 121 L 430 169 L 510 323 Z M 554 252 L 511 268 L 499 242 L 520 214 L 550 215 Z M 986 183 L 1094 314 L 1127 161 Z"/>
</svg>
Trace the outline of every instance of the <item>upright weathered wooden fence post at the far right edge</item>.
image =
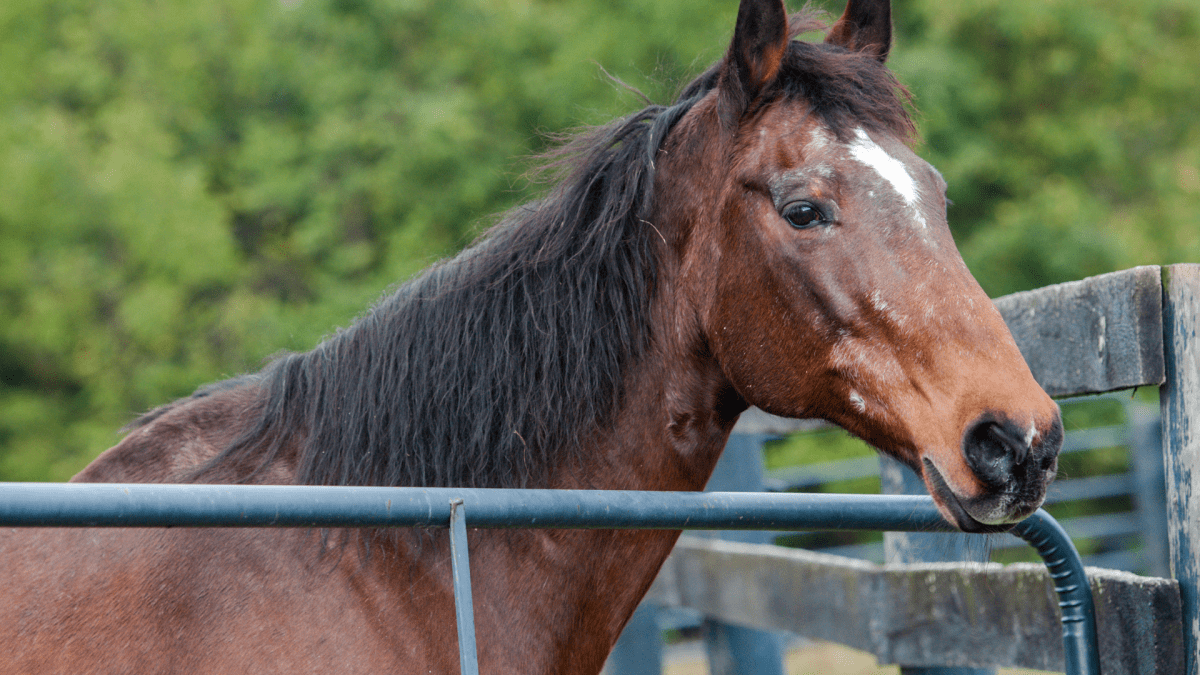
<svg viewBox="0 0 1200 675">
<path fill-rule="evenodd" d="M 1166 382 L 1160 389 L 1163 459 L 1171 575 L 1183 601 L 1187 675 L 1200 675 L 1200 265 L 1163 268 L 1163 348 Z M 1192 422 L 1196 428 L 1193 429 Z"/>
</svg>

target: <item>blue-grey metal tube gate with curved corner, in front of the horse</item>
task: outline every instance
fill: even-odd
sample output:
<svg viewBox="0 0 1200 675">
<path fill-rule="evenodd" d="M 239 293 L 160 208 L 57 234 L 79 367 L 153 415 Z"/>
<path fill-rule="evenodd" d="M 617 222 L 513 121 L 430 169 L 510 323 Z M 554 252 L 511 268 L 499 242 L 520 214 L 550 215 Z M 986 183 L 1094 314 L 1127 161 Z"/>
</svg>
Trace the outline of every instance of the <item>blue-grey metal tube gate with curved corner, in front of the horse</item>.
<svg viewBox="0 0 1200 675">
<path fill-rule="evenodd" d="M 0 526 L 448 527 L 460 663 L 472 675 L 467 526 L 950 531 L 932 500 L 918 496 L 82 483 L 0 483 Z M 1013 533 L 1055 581 L 1067 674 L 1099 675 L 1092 591 L 1070 538 L 1044 510 Z"/>
</svg>

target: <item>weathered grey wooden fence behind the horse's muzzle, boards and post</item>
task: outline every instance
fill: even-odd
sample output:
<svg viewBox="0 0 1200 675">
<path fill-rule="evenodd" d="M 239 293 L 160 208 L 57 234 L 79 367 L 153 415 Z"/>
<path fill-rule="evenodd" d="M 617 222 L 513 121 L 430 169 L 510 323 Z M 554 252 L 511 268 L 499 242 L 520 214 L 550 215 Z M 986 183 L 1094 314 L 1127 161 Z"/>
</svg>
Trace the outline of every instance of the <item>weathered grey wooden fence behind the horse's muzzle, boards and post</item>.
<svg viewBox="0 0 1200 675">
<path fill-rule="evenodd" d="M 1160 388 L 1171 578 L 1090 569 L 1102 668 L 1105 675 L 1200 675 L 1200 432 L 1189 424 L 1200 419 L 1200 265 L 1134 268 L 996 305 L 1051 395 Z M 738 431 L 794 424 L 751 414 Z M 886 492 L 914 486 L 899 465 L 884 468 Z M 883 566 L 685 537 L 649 599 L 841 643 L 904 664 L 906 675 L 925 667 L 1062 670 L 1057 605 L 1043 567 L 931 562 L 922 556 L 970 548 L 928 545 L 922 537 L 966 536 L 889 533 Z"/>
</svg>

